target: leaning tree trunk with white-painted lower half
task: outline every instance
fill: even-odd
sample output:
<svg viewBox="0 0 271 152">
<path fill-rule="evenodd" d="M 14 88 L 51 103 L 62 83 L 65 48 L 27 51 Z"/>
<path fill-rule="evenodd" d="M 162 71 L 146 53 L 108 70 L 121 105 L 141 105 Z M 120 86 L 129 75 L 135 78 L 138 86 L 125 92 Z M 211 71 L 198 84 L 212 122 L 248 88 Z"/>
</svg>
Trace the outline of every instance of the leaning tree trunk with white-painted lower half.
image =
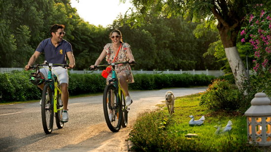
<svg viewBox="0 0 271 152">
<path fill-rule="evenodd" d="M 225 48 L 226 57 L 234 74 L 236 85 L 238 90 L 241 91 L 244 89 L 243 83 L 249 80 L 249 76 L 236 47 L 239 28 L 223 26 L 221 23 L 218 23 L 217 28 Z"/>
</svg>

